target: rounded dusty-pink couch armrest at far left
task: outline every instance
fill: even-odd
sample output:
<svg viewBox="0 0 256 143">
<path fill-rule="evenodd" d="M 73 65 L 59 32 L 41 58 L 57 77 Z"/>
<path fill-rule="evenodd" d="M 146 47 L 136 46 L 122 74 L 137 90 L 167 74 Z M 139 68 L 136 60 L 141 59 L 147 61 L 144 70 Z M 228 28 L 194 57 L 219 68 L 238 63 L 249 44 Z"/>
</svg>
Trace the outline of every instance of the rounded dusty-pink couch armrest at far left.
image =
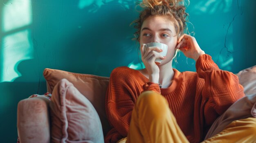
<svg viewBox="0 0 256 143">
<path fill-rule="evenodd" d="M 20 143 L 50 143 L 49 99 L 34 97 L 18 103 Z"/>
</svg>

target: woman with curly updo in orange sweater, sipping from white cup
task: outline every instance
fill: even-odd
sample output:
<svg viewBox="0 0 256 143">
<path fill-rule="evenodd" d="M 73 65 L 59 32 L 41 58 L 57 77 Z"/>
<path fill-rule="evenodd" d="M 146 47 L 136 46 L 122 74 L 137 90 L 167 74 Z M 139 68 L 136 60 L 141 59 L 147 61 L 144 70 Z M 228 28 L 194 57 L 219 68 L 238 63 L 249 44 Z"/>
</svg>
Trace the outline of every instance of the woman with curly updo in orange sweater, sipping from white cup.
<svg viewBox="0 0 256 143">
<path fill-rule="evenodd" d="M 194 37 L 183 34 L 188 14 L 179 3 L 143 0 L 145 8 L 135 21 L 135 34 L 146 68 L 112 71 L 106 92 L 112 130 L 105 137 L 106 143 L 199 143 L 216 118 L 245 96 L 238 77 L 220 70 Z M 150 42 L 167 44 L 166 57 L 155 46 L 145 51 L 144 45 Z M 180 73 L 172 68 L 176 50 L 196 61 L 196 72 Z M 163 61 L 156 64 L 157 58 Z M 255 122 L 251 120 L 245 122 Z M 207 141 L 222 138 L 236 142 L 242 137 L 220 133 Z"/>
</svg>

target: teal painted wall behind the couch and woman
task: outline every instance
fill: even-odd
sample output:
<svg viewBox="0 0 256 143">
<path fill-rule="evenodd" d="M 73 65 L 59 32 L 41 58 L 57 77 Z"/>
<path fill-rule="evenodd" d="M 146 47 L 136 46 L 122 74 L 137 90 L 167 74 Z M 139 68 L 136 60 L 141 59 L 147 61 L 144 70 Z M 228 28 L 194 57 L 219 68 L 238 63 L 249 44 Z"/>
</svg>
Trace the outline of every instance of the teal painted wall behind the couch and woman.
<svg viewBox="0 0 256 143">
<path fill-rule="evenodd" d="M 255 0 L 191 0 L 189 28 L 223 70 L 256 65 Z M 141 68 L 133 0 L 2 0 L 0 3 L 0 138 L 16 141 L 17 104 L 46 92 L 43 70 L 109 76 Z M 182 53 L 175 68 L 195 71 Z"/>
</svg>

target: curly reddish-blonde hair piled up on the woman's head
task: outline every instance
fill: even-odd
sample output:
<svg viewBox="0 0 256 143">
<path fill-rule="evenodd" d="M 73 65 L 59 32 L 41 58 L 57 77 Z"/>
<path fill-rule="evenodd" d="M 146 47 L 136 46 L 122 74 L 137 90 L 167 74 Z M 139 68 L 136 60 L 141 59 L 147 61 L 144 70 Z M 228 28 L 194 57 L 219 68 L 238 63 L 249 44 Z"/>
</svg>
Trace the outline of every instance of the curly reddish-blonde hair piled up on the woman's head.
<svg viewBox="0 0 256 143">
<path fill-rule="evenodd" d="M 186 4 L 189 5 L 189 0 Z M 142 0 L 139 6 L 144 9 L 140 12 L 139 19 L 132 22 L 132 24 L 135 23 L 134 27 L 137 29 L 134 34 L 138 42 L 142 23 L 150 16 L 166 16 L 175 24 L 178 37 L 184 33 L 186 22 L 189 19 L 189 14 L 185 12 L 184 0 Z"/>
</svg>

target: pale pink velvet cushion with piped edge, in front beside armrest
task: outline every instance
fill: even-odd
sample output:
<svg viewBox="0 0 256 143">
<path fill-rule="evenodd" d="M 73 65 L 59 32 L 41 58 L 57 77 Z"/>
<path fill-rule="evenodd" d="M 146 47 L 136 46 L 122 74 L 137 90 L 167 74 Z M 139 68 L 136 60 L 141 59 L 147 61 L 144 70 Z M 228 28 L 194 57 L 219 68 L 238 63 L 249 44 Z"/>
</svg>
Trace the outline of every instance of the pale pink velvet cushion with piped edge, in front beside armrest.
<svg viewBox="0 0 256 143">
<path fill-rule="evenodd" d="M 51 142 L 103 143 L 102 126 L 96 110 L 67 79 L 61 79 L 52 92 Z"/>
</svg>

